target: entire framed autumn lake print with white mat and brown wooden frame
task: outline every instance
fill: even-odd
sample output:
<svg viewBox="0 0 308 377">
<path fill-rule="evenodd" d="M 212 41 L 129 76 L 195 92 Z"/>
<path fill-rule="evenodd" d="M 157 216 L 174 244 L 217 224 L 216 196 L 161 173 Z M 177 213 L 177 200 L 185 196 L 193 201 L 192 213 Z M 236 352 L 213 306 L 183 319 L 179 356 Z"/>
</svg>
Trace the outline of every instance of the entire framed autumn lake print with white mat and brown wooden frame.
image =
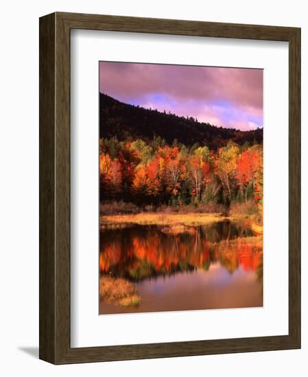
<svg viewBox="0 0 308 377">
<path fill-rule="evenodd" d="M 300 348 L 300 29 L 40 19 L 40 358 Z"/>
</svg>

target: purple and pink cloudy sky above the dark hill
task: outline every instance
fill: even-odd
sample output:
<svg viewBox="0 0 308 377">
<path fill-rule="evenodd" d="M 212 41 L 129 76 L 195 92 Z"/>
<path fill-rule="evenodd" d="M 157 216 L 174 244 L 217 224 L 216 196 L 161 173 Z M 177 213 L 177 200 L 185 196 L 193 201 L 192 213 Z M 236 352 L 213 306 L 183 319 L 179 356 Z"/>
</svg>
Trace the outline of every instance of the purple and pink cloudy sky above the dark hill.
<svg viewBox="0 0 308 377">
<path fill-rule="evenodd" d="M 126 104 L 222 127 L 263 127 L 263 70 L 99 63 L 99 90 Z"/>
</svg>

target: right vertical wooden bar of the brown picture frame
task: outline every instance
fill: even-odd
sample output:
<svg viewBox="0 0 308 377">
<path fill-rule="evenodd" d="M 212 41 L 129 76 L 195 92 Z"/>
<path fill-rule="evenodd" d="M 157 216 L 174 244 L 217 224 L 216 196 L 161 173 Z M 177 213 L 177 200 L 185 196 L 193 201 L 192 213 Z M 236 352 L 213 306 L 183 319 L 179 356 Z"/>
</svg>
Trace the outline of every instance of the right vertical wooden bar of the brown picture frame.
<svg viewBox="0 0 308 377">
<path fill-rule="evenodd" d="M 289 40 L 289 336 L 300 347 L 300 29 Z"/>
</svg>

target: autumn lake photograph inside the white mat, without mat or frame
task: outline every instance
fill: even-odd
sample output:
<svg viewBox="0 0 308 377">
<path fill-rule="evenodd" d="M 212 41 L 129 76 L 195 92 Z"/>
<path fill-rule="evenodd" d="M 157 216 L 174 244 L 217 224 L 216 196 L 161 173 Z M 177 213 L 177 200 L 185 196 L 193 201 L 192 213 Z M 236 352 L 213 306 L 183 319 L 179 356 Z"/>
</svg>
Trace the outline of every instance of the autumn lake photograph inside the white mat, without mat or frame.
<svg viewBox="0 0 308 377">
<path fill-rule="evenodd" d="M 263 306 L 263 70 L 99 62 L 99 314 Z"/>
</svg>

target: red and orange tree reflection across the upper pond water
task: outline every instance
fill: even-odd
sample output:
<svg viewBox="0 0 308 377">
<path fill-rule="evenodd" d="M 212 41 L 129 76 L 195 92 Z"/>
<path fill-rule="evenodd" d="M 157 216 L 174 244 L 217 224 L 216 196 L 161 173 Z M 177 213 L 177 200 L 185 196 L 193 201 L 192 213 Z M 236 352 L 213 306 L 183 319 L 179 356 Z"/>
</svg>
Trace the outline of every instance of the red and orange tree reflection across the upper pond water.
<svg viewBox="0 0 308 377">
<path fill-rule="evenodd" d="M 179 271 L 208 270 L 217 261 L 230 273 L 239 265 L 245 271 L 256 271 L 262 246 L 260 237 L 230 221 L 180 234 L 165 234 L 158 226 L 131 226 L 102 232 L 99 268 L 103 274 L 134 282 Z"/>
</svg>

